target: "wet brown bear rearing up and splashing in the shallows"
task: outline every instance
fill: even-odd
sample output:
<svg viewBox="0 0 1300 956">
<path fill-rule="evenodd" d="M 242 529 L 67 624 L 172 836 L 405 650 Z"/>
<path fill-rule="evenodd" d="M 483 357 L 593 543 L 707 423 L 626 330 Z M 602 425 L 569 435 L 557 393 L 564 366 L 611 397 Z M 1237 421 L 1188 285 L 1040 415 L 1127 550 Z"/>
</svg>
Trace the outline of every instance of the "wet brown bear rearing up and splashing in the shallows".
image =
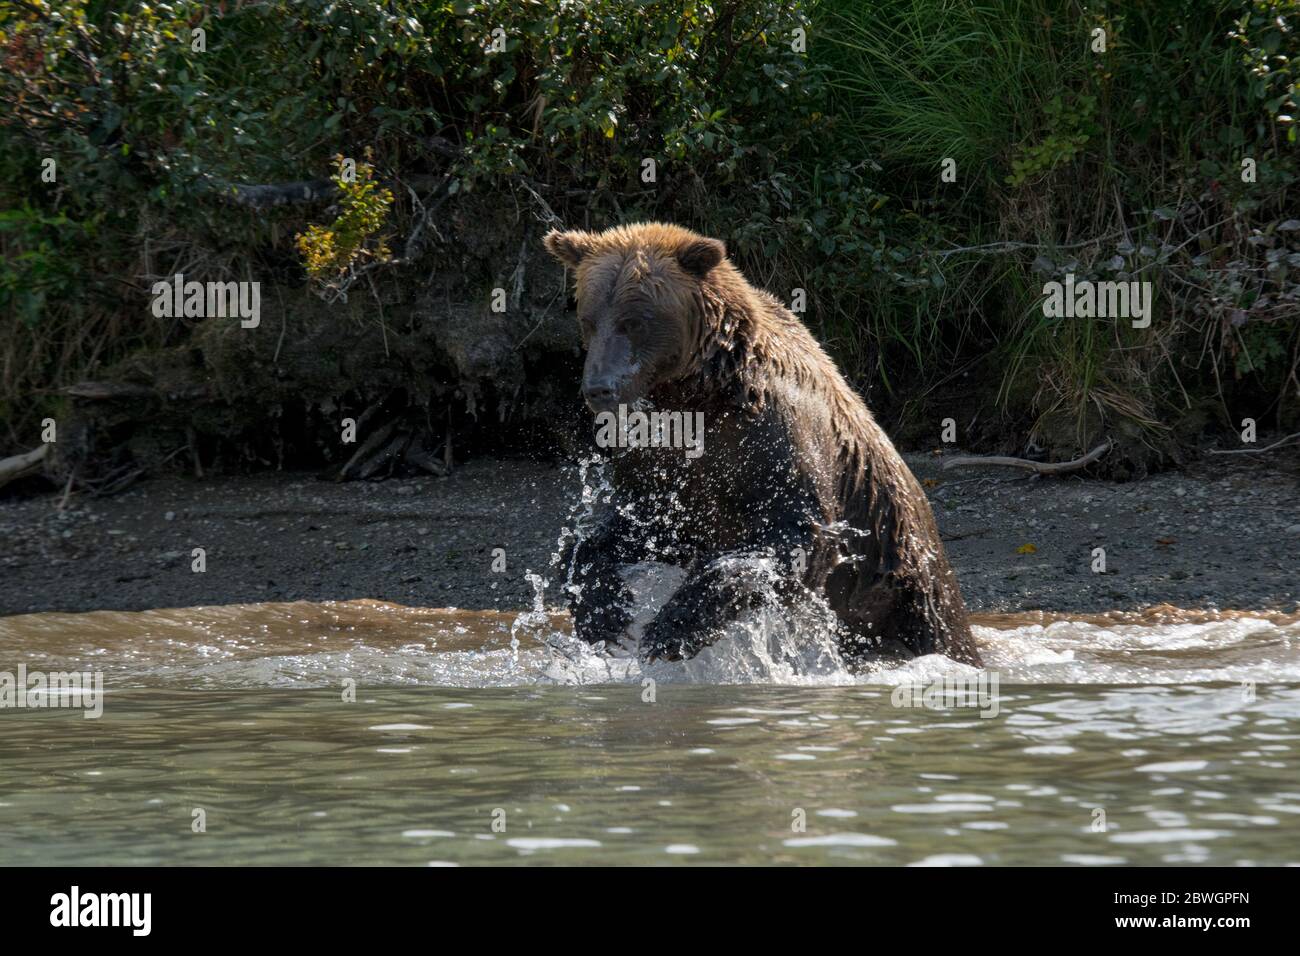
<svg viewBox="0 0 1300 956">
<path fill-rule="evenodd" d="M 620 567 L 686 567 L 645 628 L 645 661 L 688 659 L 760 602 L 753 563 L 789 568 L 783 596 L 820 594 L 857 666 L 941 653 L 979 665 L 966 606 L 920 485 L 811 333 L 754 289 L 727 250 L 644 222 L 552 230 L 547 251 L 577 274 L 599 416 L 703 414 L 703 453 L 641 442 L 610 463 L 614 497 L 566 557 L 575 631 L 615 641 L 629 623 Z"/>
</svg>

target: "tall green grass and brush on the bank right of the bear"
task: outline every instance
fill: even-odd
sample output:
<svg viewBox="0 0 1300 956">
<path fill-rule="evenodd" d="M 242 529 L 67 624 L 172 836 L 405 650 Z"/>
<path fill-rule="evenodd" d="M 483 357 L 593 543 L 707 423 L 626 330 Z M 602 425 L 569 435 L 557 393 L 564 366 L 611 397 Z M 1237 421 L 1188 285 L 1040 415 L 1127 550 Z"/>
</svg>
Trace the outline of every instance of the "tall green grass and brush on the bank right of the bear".
<svg viewBox="0 0 1300 956">
<path fill-rule="evenodd" d="M 1300 4 L 828 0 L 819 10 L 840 148 L 870 152 L 890 198 L 939 238 L 900 271 L 935 271 L 924 313 L 946 329 L 919 326 L 890 350 L 880 320 L 866 323 L 881 363 L 916 367 L 918 354 L 941 355 L 931 342 L 957 341 L 922 382 L 948 368 L 996 381 L 979 401 L 996 394 L 1024 423 L 1013 428 L 1044 445 L 1118 431 L 1176 450 L 1170 428 L 1200 425 L 1206 401 L 1222 424 L 1295 418 Z M 940 179 L 945 157 L 956 183 Z M 1258 168 L 1249 183 L 1245 157 Z M 1043 282 L 1066 272 L 1152 281 L 1152 329 L 1044 317 Z M 897 299 L 885 291 L 876 315 L 906 315 Z"/>
</svg>

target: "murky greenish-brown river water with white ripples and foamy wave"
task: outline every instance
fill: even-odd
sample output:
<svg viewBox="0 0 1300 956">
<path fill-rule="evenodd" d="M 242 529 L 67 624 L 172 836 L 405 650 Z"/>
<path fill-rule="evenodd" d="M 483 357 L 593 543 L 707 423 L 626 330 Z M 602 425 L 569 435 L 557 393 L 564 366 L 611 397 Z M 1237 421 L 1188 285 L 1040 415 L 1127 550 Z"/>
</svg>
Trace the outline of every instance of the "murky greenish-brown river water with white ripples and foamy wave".
<svg viewBox="0 0 1300 956">
<path fill-rule="evenodd" d="M 976 620 L 983 672 L 850 675 L 798 622 L 642 672 L 540 611 L 0 618 L 104 688 L 0 710 L 0 864 L 1300 862 L 1294 617 Z"/>
</svg>

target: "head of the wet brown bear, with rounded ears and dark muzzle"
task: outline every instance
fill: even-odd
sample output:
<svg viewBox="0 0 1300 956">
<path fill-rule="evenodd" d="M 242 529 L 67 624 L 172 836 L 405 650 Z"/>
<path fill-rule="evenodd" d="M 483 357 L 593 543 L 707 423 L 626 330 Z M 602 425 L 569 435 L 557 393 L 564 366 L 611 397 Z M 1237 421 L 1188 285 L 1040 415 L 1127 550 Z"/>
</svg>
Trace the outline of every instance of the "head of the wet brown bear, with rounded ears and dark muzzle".
<svg viewBox="0 0 1300 956">
<path fill-rule="evenodd" d="M 660 222 L 556 229 L 543 242 L 577 273 L 582 395 L 592 411 L 632 406 L 690 371 L 703 284 L 727 255 L 722 242 Z"/>
</svg>

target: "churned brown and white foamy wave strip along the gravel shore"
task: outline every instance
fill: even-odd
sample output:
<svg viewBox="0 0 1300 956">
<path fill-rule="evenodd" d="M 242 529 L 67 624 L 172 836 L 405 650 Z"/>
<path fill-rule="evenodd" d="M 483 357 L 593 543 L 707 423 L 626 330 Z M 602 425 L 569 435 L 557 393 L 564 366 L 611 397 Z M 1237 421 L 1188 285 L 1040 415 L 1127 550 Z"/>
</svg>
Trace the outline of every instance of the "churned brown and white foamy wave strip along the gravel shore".
<svg viewBox="0 0 1300 956">
<path fill-rule="evenodd" d="M 632 636 L 680 580 L 633 568 Z M 519 687 L 637 682 L 797 685 L 931 682 L 975 670 L 939 656 L 849 674 L 814 606 L 734 622 L 694 661 L 642 667 L 630 646 L 595 649 L 554 610 L 510 614 L 378 601 L 259 604 L 0 618 L 0 670 L 98 670 L 125 687 Z M 980 615 L 987 669 L 1013 684 L 1300 683 L 1295 615 L 1176 611 Z M 630 637 L 628 641 L 630 645 Z"/>
</svg>

